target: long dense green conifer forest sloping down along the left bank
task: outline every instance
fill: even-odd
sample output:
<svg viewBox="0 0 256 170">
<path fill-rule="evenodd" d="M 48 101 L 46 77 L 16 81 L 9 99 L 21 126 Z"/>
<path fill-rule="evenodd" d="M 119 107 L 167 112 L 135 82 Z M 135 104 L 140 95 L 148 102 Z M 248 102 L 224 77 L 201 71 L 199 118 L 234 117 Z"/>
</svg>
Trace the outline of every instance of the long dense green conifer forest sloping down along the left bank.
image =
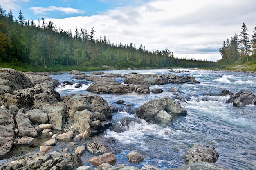
<svg viewBox="0 0 256 170">
<path fill-rule="evenodd" d="M 120 68 L 143 67 L 209 67 L 216 63 L 174 57 L 171 50 L 148 50 L 142 44 L 111 43 L 106 36 L 95 38 L 93 28 L 63 31 L 44 18 L 25 20 L 22 12 L 15 19 L 12 11 L 0 7 L 0 62 L 34 67 L 101 66 Z"/>
</svg>

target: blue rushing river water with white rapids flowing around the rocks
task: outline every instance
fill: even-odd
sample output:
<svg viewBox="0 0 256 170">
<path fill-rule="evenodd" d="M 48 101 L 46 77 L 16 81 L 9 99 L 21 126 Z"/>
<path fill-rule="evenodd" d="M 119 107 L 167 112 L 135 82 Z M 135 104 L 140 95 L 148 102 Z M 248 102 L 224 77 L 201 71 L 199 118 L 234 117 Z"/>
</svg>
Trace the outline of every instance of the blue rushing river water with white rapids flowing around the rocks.
<svg viewBox="0 0 256 170">
<path fill-rule="evenodd" d="M 113 114 L 112 122 L 120 123 L 122 117 L 138 119 L 133 110 L 152 99 L 176 95 L 168 90 L 176 87 L 181 100 L 177 100 L 188 112 L 186 116 L 180 116 L 169 124 L 157 125 L 149 124 L 144 120 L 130 124 L 126 131 L 117 133 L 107 130 L 100 137 L 104 136 L 114 139 L 121 149 L 116 153 L 117 164 L 128 163 L 126 154 L 136 150 L 146 157 L 141 163 L 132 165 L 141 168 L 144 164 L 156 166 L 162 170 L 175 168 L 185 164 L 184 156 L 186 150 L 195 143 L 204 146 L 215 147 L 220 155 L 216 165 L 234 170 L 254 170 L 256 169 L 256 106 L 246 105 L 244 107 L 234 107 L 232 104 L 225 104 L 229 96 L 217 97 L 207 94 L 219 94 L 223 89 L 237 93 L 245 90 L 256 94 L 256 74 L 198 71 L 189 69 L 174 69 L 181 71 L 170 72 L 167 69 L 161 70 L 108 70 L 106 74 L 177 74 L 182 76 L 194 76 L 198 84 L 174 83 L 165 85 L 150 86 L 150 90 L 161 88 L 161 94 L 100 94 L 109 105 L 119 109 Z M 90 74 L 90 72 L 84 72 Z M 77 80 L 74 74 L 54 74 L 51 77 L 59 82 L 70 81 L 73 84 L 81 83 L 81 88 L 74 88 L 74 85 L 56 87 L 61 95 L 89 93 L 87 87 L 92 84 L 90 81 Z M 115 78 L 116 82 L 122 82 L 124 78 Z M 126 105 L 116 104 L 117 100 L 124 100 Z M 156 106 L 157 107 L 157 106 Z M 46 140 L 47 138 L 45 138 Z M 90 142 L 80 141 L 82 144 Z M 53 147 L 54 150 L 65 148 L 67 143 L 58 142 Z M 72 147 L 71 147 L 72 148 Z M 25 148 L 26 149 L 26 148 Z M 35 148 L 34 150 L 38 150 Z M 71 149 L 70 149 L 71 150 Z M 9 154 L 7 159 L 0 160 L 1 163 L 10 161 L 19 154 Z M 88 159 L 92 154 L 85 152 L 82 155 L 84 166 L 90 166 Z"/>
</svg>

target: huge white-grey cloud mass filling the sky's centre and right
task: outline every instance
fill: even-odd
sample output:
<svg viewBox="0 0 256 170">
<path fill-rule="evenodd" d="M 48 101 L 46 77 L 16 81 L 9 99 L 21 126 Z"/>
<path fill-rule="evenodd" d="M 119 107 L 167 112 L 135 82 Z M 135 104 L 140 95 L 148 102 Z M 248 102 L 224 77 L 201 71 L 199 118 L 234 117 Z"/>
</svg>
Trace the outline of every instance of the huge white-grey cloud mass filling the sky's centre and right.
<svg viewBox="0 0 256 170">
<path fill-rule="evenodd" d="M 112 43 L 133 42 L 148 50 L 168 48 L 177 57 L 221 59 L 223 41 L 240 34 L 243 22 L 252 35 L 256 26 L 255 0 L 151 0 L 118 7 L 90 17 L 47 19 L 63 30 L 94 27 L 97 37 Z"/>
</svg>

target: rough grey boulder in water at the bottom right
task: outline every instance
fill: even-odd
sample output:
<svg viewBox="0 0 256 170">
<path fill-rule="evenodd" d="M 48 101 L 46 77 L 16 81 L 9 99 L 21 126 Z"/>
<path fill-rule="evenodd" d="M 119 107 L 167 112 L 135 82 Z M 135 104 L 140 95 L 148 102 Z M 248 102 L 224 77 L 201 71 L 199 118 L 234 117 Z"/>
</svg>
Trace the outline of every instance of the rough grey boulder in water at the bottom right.
<svg viewBox="0 0 256 170">
<path fill-rule="evenodd" d="M 200 144 L 195 144 L 192 148 L 186 151 L 188 154 L 185 158 L 186 164 L 195 162 L 215 163 L 219 157 L 214 148 L 205 147 Z"/>
</svg>

